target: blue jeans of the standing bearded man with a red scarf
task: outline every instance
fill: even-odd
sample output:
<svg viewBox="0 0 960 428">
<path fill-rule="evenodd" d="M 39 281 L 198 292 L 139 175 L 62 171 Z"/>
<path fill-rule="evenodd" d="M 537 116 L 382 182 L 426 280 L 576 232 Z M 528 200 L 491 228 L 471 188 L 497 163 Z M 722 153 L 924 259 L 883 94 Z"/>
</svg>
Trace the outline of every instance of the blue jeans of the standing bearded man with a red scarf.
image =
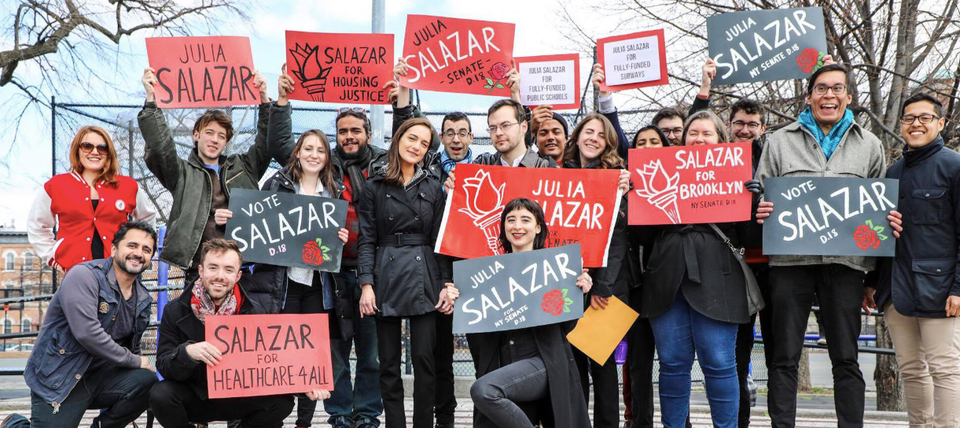
<svg viewBox="0 0 960 428">
<path fill-rule="evenodd" d="M 360 287 L 356 270 L 344 269 L 337 274 L 337 281 L 351 298 L 354 308 L 360 307 Z M 330 414 L 327 422 L 343 421 L 348 425 L 368 423 L 380 426 L 378 417 L 383 414 L 380 398 L 380 360 L 377 350 L 376 317 L 360 318 L 359 311 L 353 318 L 352 341 L 343 340 L 331 331 L 330 350 L 333 357 L 333 393 L 323 400 L 323 409 Z M 350 348 L 356 345 L 357 374 L 350 380 Z"/>
</svg>

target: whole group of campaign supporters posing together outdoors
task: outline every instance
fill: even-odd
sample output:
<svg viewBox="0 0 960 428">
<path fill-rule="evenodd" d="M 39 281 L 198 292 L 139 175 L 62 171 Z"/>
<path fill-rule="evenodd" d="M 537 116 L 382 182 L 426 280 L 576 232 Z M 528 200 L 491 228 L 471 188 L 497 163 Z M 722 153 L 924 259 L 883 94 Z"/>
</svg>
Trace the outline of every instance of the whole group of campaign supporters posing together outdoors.
<svg viewBox="0 0 960 428">
<path fill-rule="evenodd" d="M 394 71 L 405 75 L 407 65 L 401 60 Z M 487 112 L 495 151 L 479 156 L 471 148 L 474 132 L 465 114 L 447 114 L 438 133 L 410 103 L 410 90 L 399 80 L 385 87 L 395 100 L 386 150 L 370 141 L 363 108 L 339 110 L 334 147 L 319 129 L 295 138 L 288 96 L 299 89 L 281 75 L 278 99 L 267 101 L 265 82 L 257 74 L 264 103 L 249 150 L 225 155 L 233 134 L 230 116 L 209 110 L 194 125 L 195 147 L 182 159 L 157 107 L 156 77 L 148 68 L 142 79 L 146 102 L 138 116 L 144 156 L 173 197 L 159 257 L 185 272 L 182 294 L 163 311 L 156 368 L 140 356 L 150 295 L 139 278 L 157 246 L 155 216 L 136 182 L 117 175 L 109 135 L 84 127 L 71 145 L 71 172 L 51 179 L 31 210 L 31 242 L 66 277 L 25 370 L 32 425 L 12 417 L 3 426 L 77 426 L 85 410 L 103 409 L 94 426 L 122 427 L 152 408 L 168 428 L 223 420 L 239 421 L 244 428 L 276 428 L 296 404 L 296 425 L 308 427 L 322 399 L 335 428 L 375 428 L 381 413 L 388 428 L 403 427 L 401 321 L 406 318 L 414 367 L 413 426 L 452 427 L 457 406 L 452 314 L 459 291 L 452 258 L 433 248 L 457 165 L 619 169 L 618 186 L 625 194 L 629 149 L 731 142 L 753 145 L 755 177 L 746 188 L 755 194 L 754 219 L 630 226 L 624 201 L 607 267 L 579 273 L 577 286 L 586 304 L 602 310 L 616 296 L 640 313 L 626 338 L 627 423 L 653 426 L 656 352 L 665 427 L 689 425 L 695 356 L 713 424 L 748 426 L 747 377 L 759 314 L 770 417 L 773 426 L 794 426 L 798 362 L 818 298 L 840 426 L 863 425 L 865 387 L 857 362 L 861 307 L 882 310 L 890 325 L 911 425 L 960 425 L 960 155 L 944 149 L 939 100 L 919 93 L 904 102 L 900 123 L 906 146 L 903 158 L 888 170 L 882 143 L 847 108 L 852 100 L 847 68 L 828 59 L 809 78 L 807 107 L 797 121 L 765 143 L 767 114 L 760 103 L 740 99 L 725 121 L 711 110 L 715 74 L 708 60 L 689 112 L 661 110 L 630 138 L 611 93 L 601 92 L 598 112 L 571 129 L 550 106 L 529 110 L 517 101 L 514 68 L 507 82 L 511 99 L 496 101 Z M 597 64 L 592 81 L 603 80 Z M 263 190 L 348 202 L 339 234 L 345 243 L 340 272 L 244 264 L 237 244 L 224 239 L 232 217 L 231 191 L 258 189 L 271 159 L 284 167 Z M 761 196 L 770 177 L 900 179 L 899 208 L 888 217 L 898 238 L 897 257 L 877 263 L 864 257 L 763 256 L 761 224 L 776 213 Z M 499 233 L 505 253 L 544 248 L 548 233 L 536 202 L 506 203 Z M 750 270 L 740 268 L 741 257 Z M 208 397 L 205 367 L 216 366 L 222 355 L 205 341 L 205 316 L 256 313 L 330 314 L 332 393 Z M 475 426 L 619 426 L 616 363 L 611 357 L 599 364 L 572 348 L 566 333 L 573 326 L 467 335 L 477 376 L 470 389 Z M 587 410 L 591 385 L 592 421 Z"/>
</svg>

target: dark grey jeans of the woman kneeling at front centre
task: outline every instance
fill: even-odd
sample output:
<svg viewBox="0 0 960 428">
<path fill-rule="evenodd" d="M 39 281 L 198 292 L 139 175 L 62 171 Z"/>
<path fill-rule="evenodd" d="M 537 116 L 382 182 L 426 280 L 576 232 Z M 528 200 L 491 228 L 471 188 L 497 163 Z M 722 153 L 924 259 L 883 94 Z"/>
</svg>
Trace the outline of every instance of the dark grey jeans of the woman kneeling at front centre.
<svg viewBox="0 0 960 428">
<path fill-rule="evenodd" d="M 477 379 L 470 387 L 476 410 L 501 428 L 532 427 L 517 402 L 539 401 L 548 395 L 547 366 L 540 357 L 503 366 Z"/>
</svg>

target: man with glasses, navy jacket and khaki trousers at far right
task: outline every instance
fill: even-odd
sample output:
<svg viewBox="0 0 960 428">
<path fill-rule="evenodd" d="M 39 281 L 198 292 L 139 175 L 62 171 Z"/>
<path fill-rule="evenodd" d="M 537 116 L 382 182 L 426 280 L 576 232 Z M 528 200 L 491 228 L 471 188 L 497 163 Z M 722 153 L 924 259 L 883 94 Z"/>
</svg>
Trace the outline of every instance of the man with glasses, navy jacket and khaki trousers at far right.
<svg viewBox="0 0 960 428">
<path fill-rule="evenodd" d="M 910 426 L 960 426 L 960 155 L 943 145 L 946 124 L 937 98 L 918 93 L 903 102 L 903 158 L 887 178 L 900 180 L 900 206 L 910 233 L 897 257 L 883 259 L 873 302 L 883 311 L 903 378 Z M 867 309 L 869 311 L 869 309 Z"/>
</svg>

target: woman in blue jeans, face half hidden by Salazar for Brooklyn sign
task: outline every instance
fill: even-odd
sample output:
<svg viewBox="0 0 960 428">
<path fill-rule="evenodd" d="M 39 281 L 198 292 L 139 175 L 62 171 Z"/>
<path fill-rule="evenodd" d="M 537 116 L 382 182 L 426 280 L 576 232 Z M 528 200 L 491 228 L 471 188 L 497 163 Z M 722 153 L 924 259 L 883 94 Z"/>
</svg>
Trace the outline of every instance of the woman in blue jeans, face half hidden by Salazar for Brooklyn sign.
<svg viewBox="0 0 960 428">
<path fill-rule="evenodd" d="M 691 115 L 684 145 L 728 143 L 723 122 L 710 111 Z M 650 319 L 660 356 L 660 405 L 664 427 L 683 427 L 690 408 L 694 351 L 703 370 L 716 427 L 737 426 L 738 325 L 750 321 L 746 280 L 726 243 L 739 245 L 751 222 L 650 226 L 650 264 L 644 275 L 640 316 Z M 721 236 L 721 233 L 723 236 Z"/>
</svg>

